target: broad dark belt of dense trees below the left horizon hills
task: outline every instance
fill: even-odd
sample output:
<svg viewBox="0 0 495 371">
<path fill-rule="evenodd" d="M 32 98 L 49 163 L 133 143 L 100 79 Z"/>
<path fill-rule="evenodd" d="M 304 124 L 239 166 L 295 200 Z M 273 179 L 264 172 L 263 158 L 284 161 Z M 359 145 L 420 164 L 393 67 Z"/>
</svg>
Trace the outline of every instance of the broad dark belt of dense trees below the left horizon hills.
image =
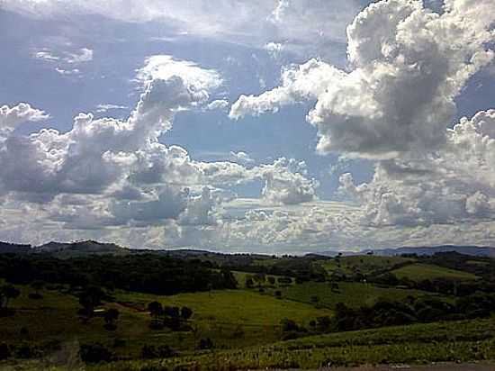
<svg viewBox="0 0 495 371">
<path fill-rule="evenodd" d="M 14 284 L 33 281 L 99 286 L 150 294 L 179 294 L 233 289 L 229 269 L 211 269 L 211 262 L 176 259 L 157 254 L 89 256 L 58 259 L 44 254 L 0 254 L 0 276 Z"/>
</svg>

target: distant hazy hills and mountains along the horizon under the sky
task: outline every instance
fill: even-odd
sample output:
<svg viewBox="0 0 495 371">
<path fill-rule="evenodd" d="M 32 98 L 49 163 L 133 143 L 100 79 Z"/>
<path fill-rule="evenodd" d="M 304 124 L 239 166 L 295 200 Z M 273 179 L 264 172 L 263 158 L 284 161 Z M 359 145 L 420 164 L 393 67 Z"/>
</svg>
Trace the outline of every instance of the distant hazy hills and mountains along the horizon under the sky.
<svg viewBox="0 0 495 371">
<path fill-rule="evenodd" d="M 457 246 L 457 245 L 442 245 L 433 247 L 402 247 L 397 249 L 365 249 L 360 252 L 338 252 L 326 251 L 318 253 L 306 254 L 306 257 L 335 257 L 341 255 L 366 255 L 374 254 L 377 256 L 396 256 L 403 254 L 417 255 L 434 255 L 438 252 L 455 251 L 459 254 L 472 255 L 476 257 L 491 257 L 495 258 L 495 248 L 482 246 Z M 1 253 L 18 253 L 18 254 L 49 254 L 57 258 L 75 258 L 87 255 L 128 255 L 139 253 L 157 253 L 166 254 L 173 258 L 217 258 L 229 256 L 232 254 L 222 254 L 211 252 L 202 249 L 126 249 L 114 243 L 103 243 L 94 240 L 83 240 L 75 242 L 49 242 L 40 246 L 21 245 L 8 242 L 0 242 Z M 238 258 L 246 257 L 248 254 L 233 254 Z M 269 255 L 249 254 L 250 258 L 270 258 Z"/>
</svg>

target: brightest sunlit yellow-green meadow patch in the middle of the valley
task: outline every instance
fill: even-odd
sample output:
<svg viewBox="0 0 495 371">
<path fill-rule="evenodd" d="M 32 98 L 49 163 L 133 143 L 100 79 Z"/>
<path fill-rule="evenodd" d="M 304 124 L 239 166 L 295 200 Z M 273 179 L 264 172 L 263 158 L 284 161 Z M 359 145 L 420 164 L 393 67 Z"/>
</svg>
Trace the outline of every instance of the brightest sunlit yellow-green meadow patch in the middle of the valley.
<svg viewBox="0 0 495 371">
<path fill-rule="evenodd" d="M 193 324 L 201 329 L 201 337 L 209 337 L 220 347 L 244 347 L 280 339 L 280 321 L 290 318 L 304 326 L 321 315 L 330 315 L 306 303 L 276 299 L 256 291 L 225 290 L 211 293 L 160 296 L 118 293 L 116 299 L 145 308 L 158 300 L 164 305 L 188 306 L 193 309 Z M 242 336 L 236 336 L 241 331 Z"/>
</svg>

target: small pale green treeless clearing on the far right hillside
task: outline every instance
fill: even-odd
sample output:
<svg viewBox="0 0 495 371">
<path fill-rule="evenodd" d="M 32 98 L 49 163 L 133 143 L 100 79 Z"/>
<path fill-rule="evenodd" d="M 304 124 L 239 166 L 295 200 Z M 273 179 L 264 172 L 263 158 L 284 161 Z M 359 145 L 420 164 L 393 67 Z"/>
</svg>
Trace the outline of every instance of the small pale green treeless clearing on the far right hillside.
<svg viewBox="0 0 495 371">
<path fill-rule="evenodd" d="M 429 264 L 411 264 L 410 266 L 401 267 L 393 270 L 392 273 L 398 278 L 407 277 L 413 281 L 424 279 L 448 278 L 457 280 L 472 280 L 478 278 L 471 273 L 460 270 L 438 267 Z"/>
</svg>

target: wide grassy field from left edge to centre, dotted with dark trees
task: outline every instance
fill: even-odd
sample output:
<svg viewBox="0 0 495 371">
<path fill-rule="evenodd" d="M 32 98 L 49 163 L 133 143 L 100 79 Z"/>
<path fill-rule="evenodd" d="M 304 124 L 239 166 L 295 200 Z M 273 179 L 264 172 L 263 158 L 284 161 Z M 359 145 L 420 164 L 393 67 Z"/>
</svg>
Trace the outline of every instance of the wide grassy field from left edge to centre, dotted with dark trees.
<svg viewBox="0 0 495 371">
<path fill-rule="evenodd" d="M 199 339 L 210 338 L 216 348 L 239 348 L 266 344 L 281 338 L 280 321 L 290 318 L 304 326 L 327 309 L 317 309 L 306 303 L 276 299 L 269 295 L 245 290 L 213 291 L 211 293 L 158 296 L 117 291 L 115 303 L 121 316 L 117 330 L 103 329 L 103 319 L 88 323 L 79 320 L 80 307 L 75 296 L 57 291 L 42 291 L 42 300 L 32 300 L 29 287 L 21 288 L 21 296 L 12 302 L 15 314 L 0 318 L 0 342 L 22 344 L 29 341 L 45 346 L 53 340 L 76 340 L 80 343 L 101 342 L 112 346 L 115 339 L 125 345 L 115 349 L 119 355 L 139 356 L 144 344 L 168 345 L 176 350 L 196 347 Z M 164 305 L 188 306 L 193 309 L 190 325 L 196 331 L 150 330 L 147 304 L 158 301 Z M 22 329 L 25 328 L 27 333 Z"/>
</svg>

